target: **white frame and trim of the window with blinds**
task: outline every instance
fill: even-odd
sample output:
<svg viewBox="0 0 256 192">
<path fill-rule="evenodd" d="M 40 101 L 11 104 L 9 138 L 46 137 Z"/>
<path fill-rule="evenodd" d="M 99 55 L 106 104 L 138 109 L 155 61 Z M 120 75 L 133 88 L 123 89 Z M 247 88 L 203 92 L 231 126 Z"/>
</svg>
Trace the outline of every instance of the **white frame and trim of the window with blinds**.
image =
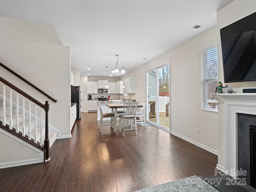
<svg viewBox="0 0 256 192">
<path fill-rule="evenodd" d="M 208 64 L 205 53 L 208 50 L 211 50 L 212 48 L 216 48 L 216 52 L 214 54 L 214 60 L 217 62 L 217 74 L 218 74 L 218 47 L 217 43 L 211 44 L 209 46 L 203 47 L 199 50 L 200 52 L 200 60 L 201 60 L 201 110 L 206 110 L 206 111 L 213 111 L 213 112 L 218 112 L 218 108 L 212 108 L 212 106 L 208 106 L 208 86 L 207 82 L 208 81 L 218 81 L 218 76 L 215 77 L 207 77 L 207 68 L 206 65 Z M 216 84 L 217 86 L 217 84 Z M 218 105 L 218 100 L 217 100 L 217 105 Z"/>
</svg>

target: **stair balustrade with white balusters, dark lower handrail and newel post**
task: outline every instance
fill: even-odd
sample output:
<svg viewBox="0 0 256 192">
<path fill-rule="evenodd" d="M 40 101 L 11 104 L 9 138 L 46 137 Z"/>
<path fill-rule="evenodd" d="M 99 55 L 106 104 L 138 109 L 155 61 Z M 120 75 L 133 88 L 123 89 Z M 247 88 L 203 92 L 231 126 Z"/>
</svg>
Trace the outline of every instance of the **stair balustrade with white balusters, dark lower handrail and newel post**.
<svg viewBox="0 0 256 192">
<path fill-rule="evenodd" d="M 30 141 L 33 141 L 35 144 L 39 142 L 39 145 L 41 147 L 44 146 L 44 149 L 46 150 L 45 161 L 48 161 L 50 159 L 50 143 L 48 136 L 48 101 L 46 101 L 45 104 L 42 104 L 1 77 L 0 81 L 2 82 L 3 88 L 3 95 L 0 96 L 0 98 L 2 97 L 2 126 L 6 126 L 6 124 L 8 124 L 6 127 L 8 127 L 10 130 L 15 129 L 17 134 L 22 135 L 24 138 Z M 8 91 L 8 89 L 10 92 L 9 94 L 6 94 L 6 90 Z M 15 94 L 16 97 L 14 96 Z M 22 103 L 22 106 L 19 106 L 20 102 Z M 43 109 L 46 114 L 45 119 L 43 119 Z M 45 122 L 45 126 L 43 126 L 43 121 Z M 22 127 L 21 129 L 20 126 Z M 38 129 L 38 126 L 40 126 L 40 129 Z M 43 127 L 45 127 L 45 131 L 43 131 Z"/>
</svg>

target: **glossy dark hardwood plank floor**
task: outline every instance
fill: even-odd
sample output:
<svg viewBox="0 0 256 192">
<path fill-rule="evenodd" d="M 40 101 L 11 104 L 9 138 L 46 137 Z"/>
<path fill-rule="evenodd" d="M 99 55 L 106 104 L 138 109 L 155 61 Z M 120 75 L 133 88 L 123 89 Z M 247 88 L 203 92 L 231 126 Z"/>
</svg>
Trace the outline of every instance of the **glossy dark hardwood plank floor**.
<svg viewBox="0 0 256 192">
<path fill-rule="evenodd" d="M 72 138 L 56 140 L 50 162 L 0 169 L 0 192 L 133 192 L 188 176 L 214 175 L 217 156 L 154 126 L 98 133 L 82 113 Z"/>
</svg>

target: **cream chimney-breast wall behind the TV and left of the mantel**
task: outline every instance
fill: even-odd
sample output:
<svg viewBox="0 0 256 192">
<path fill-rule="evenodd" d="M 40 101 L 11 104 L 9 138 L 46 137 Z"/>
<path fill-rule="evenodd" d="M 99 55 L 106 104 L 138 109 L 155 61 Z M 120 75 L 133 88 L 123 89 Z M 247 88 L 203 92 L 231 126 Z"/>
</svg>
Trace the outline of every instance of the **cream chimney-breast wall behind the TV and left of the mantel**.
<svg viewBox="0 0 256 192">
<path fill-rule="evenodd" d="M 224 82 L 220 29 L 232 24 L 252 13 L 256 12 L 256 0 L 234 0 L 217 12 L 217 32 L 218 32 L 218 78 Z M 236 82 L 228 83 L 233 88 L 256 87 L 256 82 Z M 226 145 L 226 120 L 224 100 L 219 97 L 218 110 L 218 165 L 217 167 L 224 169 L 225 166 L 225 145 Z"/>
</svg>

